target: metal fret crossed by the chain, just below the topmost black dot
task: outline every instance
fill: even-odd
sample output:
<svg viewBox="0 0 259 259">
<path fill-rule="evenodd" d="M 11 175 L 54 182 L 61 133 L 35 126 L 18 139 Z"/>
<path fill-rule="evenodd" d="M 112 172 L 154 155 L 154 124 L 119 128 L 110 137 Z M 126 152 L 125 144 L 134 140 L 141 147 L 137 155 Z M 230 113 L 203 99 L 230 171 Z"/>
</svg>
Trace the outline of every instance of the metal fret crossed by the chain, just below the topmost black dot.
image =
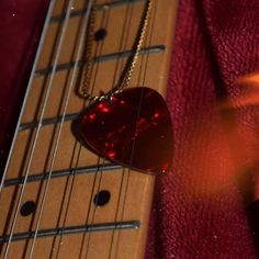
<svg viewBox="0 0 259 259">
<path fill-rule="evenodd" d="M 140 55 L 156 54 L 156 53 L 165 52 L 165 49 L 166 49 L 165 45 L 155 45 L 155 46 L 143 48 L 139 54 Z M 127 58 L 131 55 L 132 55 L 132 50 L 111 53 L 111 54 L 106 54 L 106 55 L 103 55 L 103 56 L 94 57 L 92 59 L 92 64 L 112 61 L 112 60 L 119 59 L 119 58 Z M 85 65 L 86 65 L 86 63 L 83 60 L 80 60 L 80 61 L 78 61 L 77 67 L 80 68 Z M 57 66 L 56 71 L 69 70 L 71 68 L 74 68 L 75 66 L 76 66 L 75 61 L 59 64 Z M 41 77 L 41 76 L 48 75 L 50 70 L 52 70 L 52 67 L 38 69 L 38 70 L 35 71 L 35 77 Z"/>
</svg>

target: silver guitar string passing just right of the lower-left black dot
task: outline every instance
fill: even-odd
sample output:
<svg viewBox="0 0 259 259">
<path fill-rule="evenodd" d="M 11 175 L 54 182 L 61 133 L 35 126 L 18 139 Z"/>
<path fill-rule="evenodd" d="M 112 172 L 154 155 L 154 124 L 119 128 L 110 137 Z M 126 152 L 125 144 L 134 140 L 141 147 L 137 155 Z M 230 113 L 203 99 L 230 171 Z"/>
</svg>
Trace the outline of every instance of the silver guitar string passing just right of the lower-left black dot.
<svg viewBox="0 0 259 259">
<path fill-rule="evenodd" d="M 35 232 L 34 232 L 35 234 L 34 234 L 33 243 L 32 243 L 31 250 L 30 250 L 30 259 L 33 256 L 34 245 L 35 245 L 35 240 L 36 240 L 37 233 L 38 233 L 38 229 L 40 229 L 40 223 L 41 223 L 41 219 L 42 219 L 43 211 L 44 211 L 44 207 L 45 207 L 45 202 L 46 202 L 46 198 L 47 198 L 47 193 L 48 193 L 48 188 L 49 188 L 49 183 L 50 183 L 50 180 L 52 180 L 52 172 L 53 172 L 53 169 L 54 169 L 54 164 L 55 164 L 55 159 L 56 159 L 56 156 L 57 156 L 57 150 L 58 150 L 58 147 L 59 147 L 60 136 L 61 136 L 63 126 L 64 126 L 64 122 L 65 122 L 65 115 L 66 115 L 68 103 L 69 103 L 69 100 L 70 100 L 72 87 L 75 86 L 76 75 L 77 75 L 77 67 L 78 67 L 79 59 L 81 57 L 81 53 L 82 53 L 82 49 L 83 49 L 83 42 L 85 42 L 87 25 L 88 25 L 88 22 L 89 22 L 90 11 L 92 9 L 92 4 L 93 4 L 93 0 L 89 0 L 86 16 L 83 19 L 85 20 L 83 25 L 82 25 L 82 27 L 80 30 L 80 34 L 79 34 L 80 35 L 79 36 L 79 38 L 80 38 L 79 40 L 79 46 L 78 46 L 77 54 L 76 54 L 75 66 L 74 66 L 74 69 L 72 69 L 71 79 L 70 79 L 69 87 L 68 87 L 68 90 L 67 90 L 67 95 L 66 95 L 66 99 L 65 99 L 65 106 L 64 106 L 61 120 L 59 122 L 57 138 L 56 138 L 56 143 L 55 143 L 55 147 L 54 147 L 53 158 L 52 158 L 52 161 L 50 161 L 50 169 L 49 169 L 48 178 L 46 180 L 45 190 L 44 190 L 42 204 L 41 204 L 41 209 L 40 209 L 40 214 L 38 214 L 38 218 L 37 218 L 37 223 L 36 223 L 36 228 L 35 228 Z M 71 5 L 68 5 L 68 8 L 71 9 Z"/>
</svg>

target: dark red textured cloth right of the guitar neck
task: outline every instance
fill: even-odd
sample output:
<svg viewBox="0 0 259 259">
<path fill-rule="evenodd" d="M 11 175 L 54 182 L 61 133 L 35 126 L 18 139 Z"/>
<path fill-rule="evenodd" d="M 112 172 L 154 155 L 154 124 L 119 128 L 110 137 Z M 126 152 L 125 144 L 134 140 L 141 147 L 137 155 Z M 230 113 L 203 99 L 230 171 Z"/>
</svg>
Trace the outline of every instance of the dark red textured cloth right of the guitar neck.
<svg viewBox="0 0 259 259">
<path fill-rule="evenodd" d="M 257 70 L 259 1 L 180 1 L 168 89 L 174 166 L 157 180 L 146 258 L 258 256 L 247 211 L 257 170 L 232 170 L 232 136 L 215 111 L 240 95 L 239 76 Z M 232 120 L 256 134 L 258 111 L 238 109 Z"/>
</svg>

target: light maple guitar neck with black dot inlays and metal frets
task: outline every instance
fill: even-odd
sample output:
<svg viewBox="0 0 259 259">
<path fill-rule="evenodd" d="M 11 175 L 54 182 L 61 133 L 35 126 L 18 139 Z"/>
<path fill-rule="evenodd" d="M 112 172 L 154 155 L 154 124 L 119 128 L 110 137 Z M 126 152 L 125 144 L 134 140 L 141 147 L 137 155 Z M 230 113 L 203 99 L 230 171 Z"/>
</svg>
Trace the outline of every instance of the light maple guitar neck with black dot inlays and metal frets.
<svg viewBox="0 0 259 259">
<path fill-rule="evenodd" d="M 144 257 L 155 177 L 99 157 L 78 134 L 90 3 L 49 3 L 0 190 L 1 258 Z M 92 94 L 120 81 L 145 4 L 94 1 Z M 128 87 L 165 95 L 176 13 L 177 0 L 153 1 Z"/>
</svg>

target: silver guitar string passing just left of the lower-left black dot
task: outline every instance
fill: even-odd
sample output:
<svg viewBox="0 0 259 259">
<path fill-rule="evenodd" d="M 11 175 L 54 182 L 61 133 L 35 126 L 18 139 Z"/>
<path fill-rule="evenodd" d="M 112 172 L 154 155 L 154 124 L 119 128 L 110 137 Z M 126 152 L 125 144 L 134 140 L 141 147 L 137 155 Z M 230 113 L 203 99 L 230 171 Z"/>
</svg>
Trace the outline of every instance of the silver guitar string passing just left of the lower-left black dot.
<svg viewBox="0 0 259 259">
<path fill-rule="evenodd" d="M 34 157 L 34 150 L 36 148 L 37 139 L 38 139 L 40 132 L 41 132 L 41 128 L 42 128 L 43 116 L 44 116 L 46 105 L 47 105 L 47 101 L 48 101 L 48 97 L 49 97 L 49 93 L 50 93 L 50 90 L 52 90 L 52 87 L 53 87 L 54 75 L 55 75 L 56 67 L 57 67 L 57 64 L 58 64 L 58 59 L 59 59 L 59 56 L 60 56 L 63 41 L 64 41 L 64 36 L 66 34 L 67 23 L 68 23 L 68 19 L 69 19 L 69 15 L 70 15 L 72 2 L 74 2 L 74 0 L 69 0 L 69 2 L 68 2 L 69 10 L 66 13 L 66 16 L 65 16 L 65 20 L 64 20 L 64 26 L 61 29 L 61 32 L 60 32 L 59 36 L 58 36 L 58 44 L 57 44 L 57 48 L 56 48 L 56 55 L 55 55 L 55 58 L 54 58 L 54 65 L 53 65 L 53 68 L 52 68 L 52 74 L 50 74 L 50 78 L 49 78 L 49 81 L 48 81 L 48 86 L 46 88 L 46 93 L 45 93 L 43 106 L 42 106 L 42 110 L 41 110 L 41 113 L 40 113 L 38 126 L 36 128 L 36 133 L 35 133 L 33 143 L 32 143 L 32 149 L 30 151 L 30 157 L 29 157 L 29 161 L 27 161 L 27 165 L 26 165 L 26 171 L 25 171 L 22 189 L 21 189 L 21 192 L 20 192 L 20 195 L 19 195 L 19 199 L 18 199 L 18 204 L 16 204 L 14 217 L 13 217 L 13 221 L 12 221 L 12 224 L 11 224 L 11 232 L 10 232 L 9 240 L 8 240 L 8 244 L 7 244 L 7 247 L 5 247 L 5 251 L 4 251 L 4 259 L 8 257 L 11 240 L 12 240 L 12 237 L 13 237 L 13 233 L 14 233 L 14 228 L 15 228 L 15 224 L 16 224 L 16 219 L 18 219 L 18 215 L 19 215 L 19 209 L 21 207 L 22 198 L 23 198 L 23 194 L 24 194 L 24 191 L 25 191 L 27 177 L 29 177 L 32 160 L 33 160 L 33 157 Z"/>
</svg>

